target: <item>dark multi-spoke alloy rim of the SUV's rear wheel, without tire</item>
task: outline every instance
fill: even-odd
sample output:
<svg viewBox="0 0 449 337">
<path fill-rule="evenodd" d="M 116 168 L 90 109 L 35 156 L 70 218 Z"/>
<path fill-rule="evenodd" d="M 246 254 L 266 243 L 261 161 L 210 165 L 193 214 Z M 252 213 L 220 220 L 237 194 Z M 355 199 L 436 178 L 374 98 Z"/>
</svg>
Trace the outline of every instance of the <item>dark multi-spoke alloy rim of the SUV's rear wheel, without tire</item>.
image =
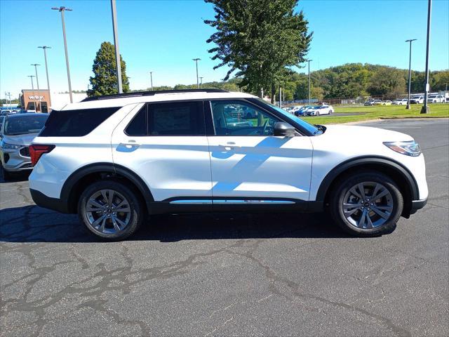
<svg viewBox="0 0 449 337">
<path fill-rule="evenodd" d="M 103 234 L 122 232 L 130 223 L 129 201 L 114 190 L 99 190 L 86 202 L 86 218 L 94 230 Z"/>
</svg>

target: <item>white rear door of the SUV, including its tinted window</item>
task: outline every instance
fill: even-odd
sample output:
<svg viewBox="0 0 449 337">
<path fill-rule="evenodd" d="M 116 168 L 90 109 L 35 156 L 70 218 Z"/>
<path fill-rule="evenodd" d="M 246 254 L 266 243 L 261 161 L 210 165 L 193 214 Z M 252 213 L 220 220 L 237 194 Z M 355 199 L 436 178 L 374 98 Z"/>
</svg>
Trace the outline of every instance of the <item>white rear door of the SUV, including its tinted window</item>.
<svg viewBox="0 0 449 337">
<path fill-rule="evenodd" d="M 115 128 L 112 156 L 147 183 L 154 201 L 212 197 L 202 100 L 138 105 Z"/>
</svg>

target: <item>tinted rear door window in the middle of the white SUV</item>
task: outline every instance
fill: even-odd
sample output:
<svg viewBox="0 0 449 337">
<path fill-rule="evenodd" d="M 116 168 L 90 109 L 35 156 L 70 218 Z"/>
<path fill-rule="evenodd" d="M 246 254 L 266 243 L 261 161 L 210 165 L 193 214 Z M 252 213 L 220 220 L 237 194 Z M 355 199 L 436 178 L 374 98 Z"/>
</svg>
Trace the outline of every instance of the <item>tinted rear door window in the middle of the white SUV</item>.
<svg viewBox="0 0 449 337">
<path fill-rule="evenodd" d="M 205 136 L 203 102 L 148 105 L 149 136 Z"/>
</svg>

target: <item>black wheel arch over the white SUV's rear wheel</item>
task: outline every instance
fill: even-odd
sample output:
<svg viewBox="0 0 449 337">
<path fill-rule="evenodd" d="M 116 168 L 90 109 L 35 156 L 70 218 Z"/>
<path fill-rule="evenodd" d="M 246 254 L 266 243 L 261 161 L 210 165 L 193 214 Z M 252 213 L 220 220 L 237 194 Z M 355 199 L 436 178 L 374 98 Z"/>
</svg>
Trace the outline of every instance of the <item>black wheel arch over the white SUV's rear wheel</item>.
<svg viewBox="0 0 449 337">
<path fill-rule="evenodd" d="M 93 183 L 95 180 L 105 178 L 120 179 L 128 183 L 131 187 L 134 187 L 139 192 L 139 197 L 145 202 L 147 209 L 149 203 L 154 201 L 149 187 L 137 173 L 121 165 L 107 162 L 95 163 L 81 167 L 65 180 L 60 199 L 67 201 L 67 210 L 69 213 L 76 213 L 79 196 L 87 185 Z"/>
</svg>

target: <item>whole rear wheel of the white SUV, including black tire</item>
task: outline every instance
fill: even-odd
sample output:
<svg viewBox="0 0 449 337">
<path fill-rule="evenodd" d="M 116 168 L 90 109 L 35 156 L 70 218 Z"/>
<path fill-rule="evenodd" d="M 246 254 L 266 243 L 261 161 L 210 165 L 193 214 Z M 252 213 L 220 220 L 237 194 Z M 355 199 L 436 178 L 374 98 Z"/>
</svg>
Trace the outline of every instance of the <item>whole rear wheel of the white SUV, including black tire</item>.
<svg viewBox="0 0 449 337">
<path fill-rule="evenodd" d="M 102 239 L 126 239 L 138 230 L 145 217 L 142 202 L 137 195 L 137 191 L 117 180 L 92 183 L 79 198 L 79 219 L 88 230 Z"/>
</svg>

